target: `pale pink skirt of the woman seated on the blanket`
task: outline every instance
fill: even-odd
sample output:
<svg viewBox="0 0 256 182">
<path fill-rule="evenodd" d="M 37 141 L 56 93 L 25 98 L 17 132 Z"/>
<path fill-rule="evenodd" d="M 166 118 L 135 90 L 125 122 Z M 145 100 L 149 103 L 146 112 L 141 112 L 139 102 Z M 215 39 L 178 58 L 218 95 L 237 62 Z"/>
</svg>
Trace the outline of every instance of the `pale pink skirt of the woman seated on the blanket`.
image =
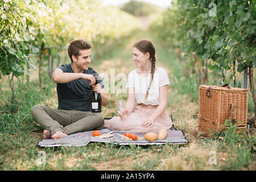
<svg viewBox="0 0 256 182">
<path fill-rule="evenodd" d="M 150 131 L 159 131 L 160 129 L 169 130 L 172 127 L 172 120 L 169 117 L 167 110 L 164 110 L 163 114 L 155 120 L 152 127 L 141 126 L 143 120 L 150 117 L 157 108 L 158 106 L 152 105 L 136 105 L 133 112 L 123 120 L 116 116 L 110 119 L 108 121 L 109 129 L 114 131 L 127 131 L 130 133 L 147 133 Z"/>
</svg>

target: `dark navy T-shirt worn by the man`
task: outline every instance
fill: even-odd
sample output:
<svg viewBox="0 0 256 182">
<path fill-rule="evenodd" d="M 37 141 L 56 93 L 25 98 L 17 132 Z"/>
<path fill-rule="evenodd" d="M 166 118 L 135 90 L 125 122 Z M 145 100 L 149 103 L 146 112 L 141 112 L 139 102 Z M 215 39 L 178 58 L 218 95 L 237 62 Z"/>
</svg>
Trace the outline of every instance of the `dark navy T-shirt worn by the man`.
<svg viewBox="0 0 256 182">
<path fill-rule="evenodd" d="M 73 73 L 71 64 L 61 65 L 57 68 L 60 68 L 64 73 Z M 94 69 L 89 67 L 83 73 L 98 76 L 98 83 L 104 88 L 100 75 Z M 66 84 L 57 84 L 58 109 L 91 111 L 92 104 L 90 97 L 92 96 L 92 86 L 89 86 L 89 84 L 90 81 L 82 78 Z"/>
</svg>

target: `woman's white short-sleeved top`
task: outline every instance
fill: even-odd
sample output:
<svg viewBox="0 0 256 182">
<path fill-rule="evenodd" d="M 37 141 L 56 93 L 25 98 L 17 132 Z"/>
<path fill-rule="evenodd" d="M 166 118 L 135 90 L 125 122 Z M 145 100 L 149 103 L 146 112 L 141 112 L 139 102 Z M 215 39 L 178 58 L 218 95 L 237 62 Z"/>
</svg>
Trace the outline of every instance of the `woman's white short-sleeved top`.
<svg viewBox="0 0 256 182">
<path fill-rule="evenodd" d="M 158 67 L 154 73 L 154 78 L 150 89 L 148 90 L 148 97 L 145 101 L 145 95 L 148 85 L 150 83 L 150 76 L 139 75 L 135 70 L 131 71 L 128 75 L 126 88 L 133 88 L 135 90 L 135 101 L 137 104 L 144 105 L 159 105 L 159 88 L 164 85 L 170 85 L 170 80 L 164 68 Z"/>
</svg>

